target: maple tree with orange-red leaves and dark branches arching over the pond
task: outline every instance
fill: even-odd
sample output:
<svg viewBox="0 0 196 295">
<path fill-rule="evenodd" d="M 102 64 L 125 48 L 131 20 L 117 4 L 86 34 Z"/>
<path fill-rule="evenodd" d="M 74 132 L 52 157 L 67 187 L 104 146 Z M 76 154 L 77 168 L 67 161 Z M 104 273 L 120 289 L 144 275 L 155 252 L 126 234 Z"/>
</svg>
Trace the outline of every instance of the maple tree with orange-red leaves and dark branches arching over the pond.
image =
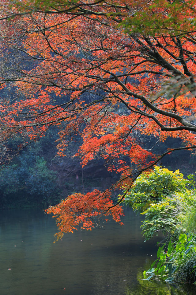
<svg viewBox="0 0 196 295">
<path fill-rule="evenodd" d="M 59 233 L 91 229 L 95 216 L 120 221 L 120 203 L 134 180 L 164 155 L 196 148 L 194 1 L 1 1 L 2 157 L 7 140 L 22 146 L 59 128 L 58 155 L 74 136 L 81 165 L 102 157 L 120 179 L 108 190 L 68 196 L 47 213 Z M 57 99 L 63 101 L 57 104 Z M 162 155 L 143 138 L 179 138 Z M 113 204 L 111 191 L 125 194 Z"/>
</svg>

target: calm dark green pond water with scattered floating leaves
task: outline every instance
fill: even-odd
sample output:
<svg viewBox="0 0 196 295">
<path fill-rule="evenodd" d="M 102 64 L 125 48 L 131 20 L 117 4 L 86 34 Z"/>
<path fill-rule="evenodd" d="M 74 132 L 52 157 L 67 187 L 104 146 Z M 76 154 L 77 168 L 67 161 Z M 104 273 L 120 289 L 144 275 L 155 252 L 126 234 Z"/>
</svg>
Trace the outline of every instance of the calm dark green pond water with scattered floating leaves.
<svg viewBox="0 0 196 295">
<path fill-rule="evenodd" d="M 40 210 L 6 210 L 0 217 L 1 295 L 177 295 L 194 286 L 142 281 L 156 258 L 144 243 L 141 217 L 125 210 L 124 226 L 108 222 L 66 234 L 55 244 L 55 220 Z M 64 289 L 65 288 L 65 289 Z"/>
</svg>

